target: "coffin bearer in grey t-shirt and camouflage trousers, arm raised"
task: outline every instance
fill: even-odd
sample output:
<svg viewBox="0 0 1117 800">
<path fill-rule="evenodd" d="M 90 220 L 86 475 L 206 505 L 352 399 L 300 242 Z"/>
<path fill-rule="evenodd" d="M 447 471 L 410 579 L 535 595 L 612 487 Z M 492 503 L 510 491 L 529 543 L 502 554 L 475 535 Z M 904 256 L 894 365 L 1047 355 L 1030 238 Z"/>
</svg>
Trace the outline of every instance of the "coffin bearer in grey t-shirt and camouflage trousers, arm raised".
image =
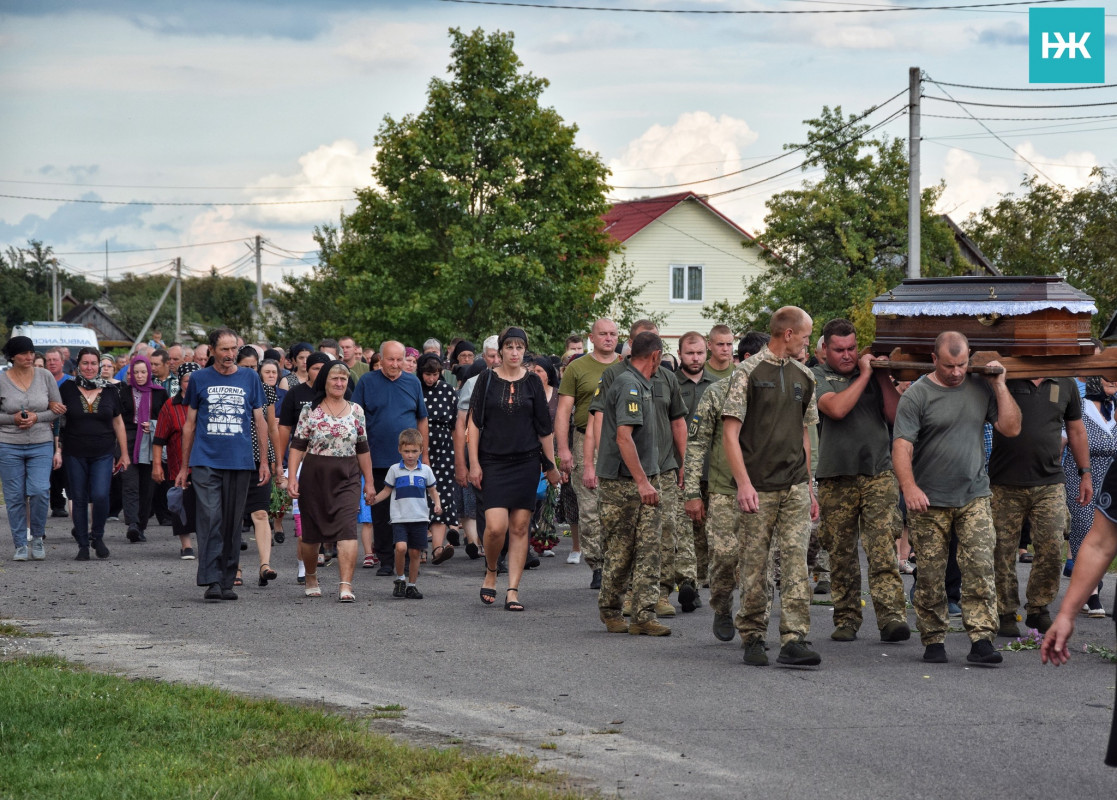
<svg viewBox="0 0 1117 800">
<path fill-rule="evenodd" d="M 908 508 L 911 546 L 919 554 L 915 613 L 923 658 L 943 664 L 948 618 L 944 584 L 951 526 L 958 537 L 962 568 L 962 623 L 972 642 L 966 660 L 1000 664 L 993 549 L 996 531 L 990 509 L 983 427 L 1003 436 L 1020 434 L 1020 408 L 1004 373 L 991 381 L 970 378 L 970 342 L 961 333 L 938 334 L 935 371 L 916 381 L 896 409 L 892 466 Z M 990 366 L 1000 366 L 995 361 Z"/>
</svg>

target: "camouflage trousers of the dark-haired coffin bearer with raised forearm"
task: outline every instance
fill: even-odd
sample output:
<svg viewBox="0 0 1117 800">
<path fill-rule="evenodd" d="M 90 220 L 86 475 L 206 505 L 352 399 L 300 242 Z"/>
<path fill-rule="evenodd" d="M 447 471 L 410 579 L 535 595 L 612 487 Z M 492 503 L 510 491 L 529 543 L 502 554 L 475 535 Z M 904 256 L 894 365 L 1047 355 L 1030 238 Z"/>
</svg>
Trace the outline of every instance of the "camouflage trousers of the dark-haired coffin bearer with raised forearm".
<svg viewBox="0 0 1117 800">
<path fill-rule="evenodd" d="M 869 563 L 869 594 L 877 627 L 906 617 L 904 581 L 896 562 L 899 486 L 888 469 L 880 475 L 850 475 L 819 480 L 822 525 L 819 539 L 830 553 L 830 597 L 834 627 L 861 627 L 861 541 Z"/>
</svg>

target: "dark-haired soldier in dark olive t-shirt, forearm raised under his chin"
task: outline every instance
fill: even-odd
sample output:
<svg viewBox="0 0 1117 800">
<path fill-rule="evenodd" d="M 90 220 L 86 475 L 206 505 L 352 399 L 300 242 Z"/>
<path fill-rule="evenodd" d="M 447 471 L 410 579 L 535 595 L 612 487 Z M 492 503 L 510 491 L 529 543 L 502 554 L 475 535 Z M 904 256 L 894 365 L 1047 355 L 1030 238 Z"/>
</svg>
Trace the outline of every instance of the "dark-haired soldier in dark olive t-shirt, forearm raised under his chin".
<svg viewBox="0 0 1117 800">
<path fill-rule="evenodd" d="M 896 562 L 899 488 L 892 472 L 888 421 L 899 392 L 872 355 L 857 355 L 857 333 L 848 320 L 822 328 L 823 361 L 814 368 L 819 435 L 820 539 L 830 552 L 836 641 L 852 641 L 861 627 L 861 540 L 869 562 L 869 593 L 881 641 L 911 637 L 907 600 Z"/>
</svg>

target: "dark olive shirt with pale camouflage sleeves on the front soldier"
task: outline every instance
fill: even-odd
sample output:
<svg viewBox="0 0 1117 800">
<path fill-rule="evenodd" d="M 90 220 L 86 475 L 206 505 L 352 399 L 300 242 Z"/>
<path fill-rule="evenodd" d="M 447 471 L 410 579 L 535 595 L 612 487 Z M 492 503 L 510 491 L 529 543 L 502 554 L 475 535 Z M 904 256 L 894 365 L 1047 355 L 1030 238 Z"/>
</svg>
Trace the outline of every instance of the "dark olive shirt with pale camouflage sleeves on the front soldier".
<svg viewBox="0 0 1117 800">
<path fill-rule="evenodd" d="M 779 492 L 809 477 L 803 429 L 819 421 L 814 375 L 765 346 L 737 365 L 722 417 L 742 422 L 741 453 L 757 492 Z"/>
</svg>

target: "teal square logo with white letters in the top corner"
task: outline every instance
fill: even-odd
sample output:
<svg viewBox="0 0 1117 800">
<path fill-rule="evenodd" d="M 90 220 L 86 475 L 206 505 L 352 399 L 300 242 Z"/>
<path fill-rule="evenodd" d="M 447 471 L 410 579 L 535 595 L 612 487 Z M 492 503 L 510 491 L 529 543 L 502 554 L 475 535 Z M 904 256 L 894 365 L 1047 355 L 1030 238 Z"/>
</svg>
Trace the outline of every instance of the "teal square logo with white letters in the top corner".
<svg viewBox="0 0 1117 800">
<path fill-rule="evenodd" d="M 1106 10 L 1102 8 L 1029 9 L 1028 82 L 1104 84 Z"/>
</svg>

